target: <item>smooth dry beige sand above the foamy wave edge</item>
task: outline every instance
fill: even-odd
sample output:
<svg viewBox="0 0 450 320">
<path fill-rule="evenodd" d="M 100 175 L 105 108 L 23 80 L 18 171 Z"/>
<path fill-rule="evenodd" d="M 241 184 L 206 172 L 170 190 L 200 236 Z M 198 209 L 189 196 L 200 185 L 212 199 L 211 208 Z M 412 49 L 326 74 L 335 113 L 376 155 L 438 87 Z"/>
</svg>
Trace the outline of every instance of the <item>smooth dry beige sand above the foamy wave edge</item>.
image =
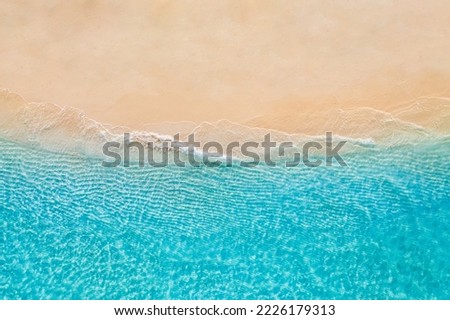
<svg viewBox="0 0 450 320">
<path fill-rule="evenodd" d="M 362 135 L 389 112 L 450 130 L 445 0 L 11 0 L 0 14 L 0 87 L 102 123 Z M 333 123 L 362 107 L 376 116 Z"/>
</svg>

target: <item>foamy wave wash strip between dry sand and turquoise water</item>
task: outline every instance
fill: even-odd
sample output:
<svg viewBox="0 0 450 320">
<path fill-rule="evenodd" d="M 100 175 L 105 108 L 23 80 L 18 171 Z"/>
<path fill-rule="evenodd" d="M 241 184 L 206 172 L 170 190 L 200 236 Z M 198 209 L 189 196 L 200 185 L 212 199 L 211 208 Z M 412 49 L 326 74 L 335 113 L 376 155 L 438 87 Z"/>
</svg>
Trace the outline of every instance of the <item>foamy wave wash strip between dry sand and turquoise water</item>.
<svg viewBox="0 0 450 320">
<path fill-rule="evenodd" d="M 417 104 L 421 108 L 415 108 Z M 289 123 L 307 123 L 303 132 L 279 130 L 276 125 L 264 127 L 257 121 L 236 123 L 229 120 L 216 122 L 162 122 L 147 125 L 147 130 L 126 126 L 113 126 L 92 119 L 81 109 L 61 107 L 49 103 L 28 102 L 9 90 L 0 90 L 0 135 L 13 141 L 35 141 L 51 151 L 81 151 L 98 155 L 107 141 L 118 141 L 124 133 L 138 140 L 173 139 L 180 134 L 187 141 L 190 134 L 203 146 L 208 141 L 228 145 L 233 141 L 245 143 L 262 141 L 266 134 L 276 142 L 322 141 L 326 132 L 338 139 L 350 141 L 344 152 L 365 146 L 394 146 L 441 138 L 450 134 L 450 99 L 446 97 L 421 98 L 398 108 L 393 114 L 373 108 L 335 109 L 315 114 L 290 117 Z M 426 117 L 424 116 L 426 114 Z M 396 115 L 401 115 L 402 118 Z M 415 120 L 420 121 L 406 121 Z M 268 118 L 277 124 L 277 118 Z M 278 118 L 280 122 L 282 117 Z M 328 119 L 332 119 L 330 122 Z M 267 121 L 267 118 L 266 118 Z M 269 122 L 270 122 L 269 121 Z M 168 125 L 170 124 L 170 125 Z M 426 126 L 424 126 L 426 124 Z M 294 145 L 295 146 L 295 145 Z"/>
</svg>

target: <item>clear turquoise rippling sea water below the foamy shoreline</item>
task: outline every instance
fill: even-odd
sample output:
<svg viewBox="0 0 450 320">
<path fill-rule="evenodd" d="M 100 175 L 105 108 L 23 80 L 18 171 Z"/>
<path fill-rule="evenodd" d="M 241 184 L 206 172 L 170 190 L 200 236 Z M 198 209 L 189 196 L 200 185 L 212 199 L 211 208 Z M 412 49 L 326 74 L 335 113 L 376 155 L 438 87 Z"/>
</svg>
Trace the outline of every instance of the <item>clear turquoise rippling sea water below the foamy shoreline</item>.
<svg viewBox="0 0 450 320">
<path fill-rule="evenodd" d="M 0 297 L 450 299 L 450 141 L 104 168 L 0 141 Z"/>
</svg>

